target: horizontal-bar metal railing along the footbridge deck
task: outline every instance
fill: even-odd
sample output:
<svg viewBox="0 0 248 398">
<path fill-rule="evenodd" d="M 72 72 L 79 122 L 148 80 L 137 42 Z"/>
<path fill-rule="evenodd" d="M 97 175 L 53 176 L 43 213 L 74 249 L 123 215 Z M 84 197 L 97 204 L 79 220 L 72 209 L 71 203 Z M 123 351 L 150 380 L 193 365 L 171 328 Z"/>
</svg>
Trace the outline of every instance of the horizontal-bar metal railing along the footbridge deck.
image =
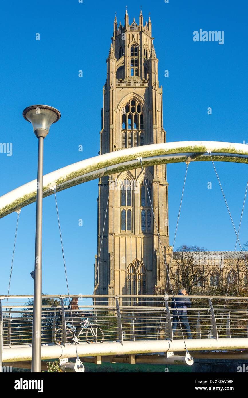
<svg viewBox="0 0 248 398">
<path fill-rule="evenodd" d="M 90 322 L 103 330 L 104 341 L 140 341 L 181 339 L 172 296 L 83 296 L 79 297 L 80 312 L 92 314 Z M 175 296 L 178 297 L 178 296 Z M 180 296 L 181 297 L 181 296 Z M 184 337 L 188 338 L 187 318 L 192 338 L 248 337 L 248 298 L 190 296 L 187 314 L 180 312 Z M 68 296 L 43 295 L 42 335 L 44 344 L 54 343 L 54 334 L 68 319 Z M 185 310 L 185 309 L 184 309 Z M 4 321 L 4 345 L 31 344 L 33 297 L 0 296 L 0 316 Z M 184 316 L 184 318 L 182 318 Z M 67 323 L 66 323 L 67 324 Z M 80 341 L 84 342 L 85 333 Z"/>
</svg>

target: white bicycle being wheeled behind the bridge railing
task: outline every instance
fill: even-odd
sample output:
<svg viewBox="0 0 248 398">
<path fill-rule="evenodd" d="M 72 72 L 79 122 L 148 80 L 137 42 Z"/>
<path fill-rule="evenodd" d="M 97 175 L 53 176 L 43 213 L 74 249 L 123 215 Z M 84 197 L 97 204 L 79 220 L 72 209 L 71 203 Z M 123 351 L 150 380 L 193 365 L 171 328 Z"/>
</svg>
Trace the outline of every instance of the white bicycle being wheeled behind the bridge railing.
<svg viewBox="0 0 248 398">
<path fill-rule="evenodd" d="M 90 315 L 90 314 L 89 314 Z M 87 343 L 102 343 L 104 340 L 104 334 L 101 328 L 98 328 L 97 326 L 93 326 L 92 323 L 88 320 L 88 318 L 80 323 L 82 325 L 82 328 L 80 330 L 80 333 L 78 335 L 78 338 L 76 338 L 76 343 L 82 343 L 83 341 L 83 330 L 86 329 L 86 341 Z M 73 344 L 75 343 L 74 340 L 74 333 L 73 333 L 73 327 L 66 326 L 65 328 L 66 332 L 66 342 L 68 344 Z M 62 342 L 62 328 L 59 328 L 56 330 L 54 334 L 54 340 L 57 345 L 61 345 Z"/>
</svg>

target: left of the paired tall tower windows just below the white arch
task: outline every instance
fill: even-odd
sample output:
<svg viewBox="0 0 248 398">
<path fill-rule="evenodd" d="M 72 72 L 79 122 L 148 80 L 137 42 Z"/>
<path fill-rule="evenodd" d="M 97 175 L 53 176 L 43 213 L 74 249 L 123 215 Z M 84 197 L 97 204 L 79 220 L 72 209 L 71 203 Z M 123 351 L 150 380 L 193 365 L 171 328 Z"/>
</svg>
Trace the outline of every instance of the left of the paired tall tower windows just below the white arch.
<svg viewBox="0 0 248 398">
<path fill-rule="evenodd" d="M 121 181 L 121 231 L 132 231 L 132 186 L 128 178 Z"/>
</svg>

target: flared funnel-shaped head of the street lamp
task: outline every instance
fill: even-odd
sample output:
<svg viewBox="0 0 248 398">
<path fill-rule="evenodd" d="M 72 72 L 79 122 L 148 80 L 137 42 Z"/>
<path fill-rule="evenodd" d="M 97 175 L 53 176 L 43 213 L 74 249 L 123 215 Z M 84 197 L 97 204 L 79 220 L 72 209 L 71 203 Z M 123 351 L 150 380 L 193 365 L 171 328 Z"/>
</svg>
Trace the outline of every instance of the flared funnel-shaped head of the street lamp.
<svg viewBox="0 0 248 398">
<path fill-rule="evenodd" d="M 32 123 L 33 132 L 37 138 L 45 138 L 49 133 L 51 124 L 56 123 L 61 117 L 58 109 L 48 105 L 28 106 L 24 109 L 22 115 L 24 119 Z"/>
</svg>

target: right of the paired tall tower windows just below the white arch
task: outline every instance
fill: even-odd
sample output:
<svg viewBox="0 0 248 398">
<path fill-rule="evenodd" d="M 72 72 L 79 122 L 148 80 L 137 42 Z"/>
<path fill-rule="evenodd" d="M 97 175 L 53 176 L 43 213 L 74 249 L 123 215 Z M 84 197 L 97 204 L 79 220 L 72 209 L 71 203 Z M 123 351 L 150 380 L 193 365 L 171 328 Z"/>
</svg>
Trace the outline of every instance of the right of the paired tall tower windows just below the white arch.
<svg viewBox="0 0 248 398">
<path fill-rule="evenodd" d="M 146 189 L 146 184 L 147 188 Z M 148 194 L 149 193 L 149 194 Z M 152 200 L 152 187 L 150 181 L 146 178 L 143 180 L 141 184 L 141 231 L 142 232 L 151 232 L 152 230 L 152 211 L 151 211 L 151 204 L 150 199 Z"/>
</svg>

